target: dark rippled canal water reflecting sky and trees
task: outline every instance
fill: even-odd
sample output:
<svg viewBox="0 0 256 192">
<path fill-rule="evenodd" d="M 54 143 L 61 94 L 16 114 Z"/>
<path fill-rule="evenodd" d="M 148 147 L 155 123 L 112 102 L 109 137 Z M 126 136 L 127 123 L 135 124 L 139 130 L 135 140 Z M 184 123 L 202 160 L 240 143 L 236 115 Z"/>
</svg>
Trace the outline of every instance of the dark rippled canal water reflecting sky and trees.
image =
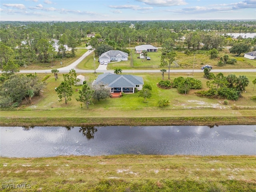
<svg viewBox="0 0 256 192">
<path fill-rule="evenodd" d="M 0 156 L 256 155 L 256 126 L 0 127 Z"/>
</svg>

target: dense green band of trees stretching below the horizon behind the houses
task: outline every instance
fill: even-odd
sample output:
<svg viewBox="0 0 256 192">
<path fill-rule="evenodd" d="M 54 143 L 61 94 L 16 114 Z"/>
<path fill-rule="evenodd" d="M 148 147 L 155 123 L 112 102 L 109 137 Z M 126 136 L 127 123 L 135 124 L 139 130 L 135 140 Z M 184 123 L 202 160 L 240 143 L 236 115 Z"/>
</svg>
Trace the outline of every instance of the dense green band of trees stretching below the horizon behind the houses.
<svg viewBox="0 0 256 192">
<path fill-rule="evenodd" d="M 76 46 L 92 45 L 96 55 L 138 44 L 172 46 L 176 50 L 211 50 L 237 42 L 255 47 L 256 38 L 220 35 L 256 32 L 255 21 L 126 21 L 126 22 L 0 22 L 0 66 L 14 60 L 19 66 L 52 63 L 75 55 Z M 93 34 L 93 38 L 87 37 Z M 54 51 L 53 39 L 59 40 Z M 71 48 L 67 52 L 66 45 Z M 255 49 L 255 48 L 254 48 Z"/>
</svg>

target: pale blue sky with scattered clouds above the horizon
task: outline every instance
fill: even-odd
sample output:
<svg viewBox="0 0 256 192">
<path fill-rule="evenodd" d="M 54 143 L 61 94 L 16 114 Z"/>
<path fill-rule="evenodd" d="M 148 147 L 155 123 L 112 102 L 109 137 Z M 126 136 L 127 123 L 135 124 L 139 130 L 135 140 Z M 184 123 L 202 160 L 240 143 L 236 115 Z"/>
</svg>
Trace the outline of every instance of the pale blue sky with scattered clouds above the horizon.
<svg viewBox="0 0 256 192">
<path fill-rule="evenodd" d="M 256 20 L 256 0 L 0 0 L 1 21 Z"/>
</svg>

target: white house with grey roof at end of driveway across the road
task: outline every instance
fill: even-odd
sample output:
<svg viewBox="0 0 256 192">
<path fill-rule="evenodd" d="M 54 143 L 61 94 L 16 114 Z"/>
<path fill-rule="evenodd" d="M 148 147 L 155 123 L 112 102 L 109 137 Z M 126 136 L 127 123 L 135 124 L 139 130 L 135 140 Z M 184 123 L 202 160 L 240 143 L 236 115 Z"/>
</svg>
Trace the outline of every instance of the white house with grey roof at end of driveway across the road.
<svg viewBox="0 0 256 192">
<path fill-rule="evenodd" d="M 128 53 L 119 50 L 110 50 L 100 55 L 99 62 L 101 61 L 128 61 Z"/>
</svg>

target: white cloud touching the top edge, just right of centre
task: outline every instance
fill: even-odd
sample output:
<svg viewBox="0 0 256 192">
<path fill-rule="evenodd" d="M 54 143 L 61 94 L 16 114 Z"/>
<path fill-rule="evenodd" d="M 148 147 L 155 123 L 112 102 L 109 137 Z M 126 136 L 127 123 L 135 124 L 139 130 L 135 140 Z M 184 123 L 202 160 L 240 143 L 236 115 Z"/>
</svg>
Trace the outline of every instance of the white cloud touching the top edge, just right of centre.
<svg viewBox="0 0 256 192">
<path fill-rule="evenodd" d="M 177 5 L 186 5 L 187 3 L 184 0 L 136 0 L 143 2 L 148 5 L 166 7 L 166 6 L 177 6 Z"/>
</svg>

